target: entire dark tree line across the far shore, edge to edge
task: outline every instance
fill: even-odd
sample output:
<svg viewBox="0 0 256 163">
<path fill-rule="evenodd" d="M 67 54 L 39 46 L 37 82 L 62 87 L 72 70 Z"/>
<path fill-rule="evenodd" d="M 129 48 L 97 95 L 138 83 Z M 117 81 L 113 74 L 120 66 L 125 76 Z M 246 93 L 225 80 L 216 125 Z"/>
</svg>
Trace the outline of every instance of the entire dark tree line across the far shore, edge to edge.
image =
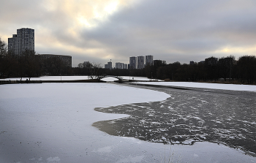
<svg viewBox="0 0 256 163">
<path fill-rule="evenodd" d="M 7 44 L 0 38 L 0 77 L 39 77 L 42 75 L 100 75 L 139 76 L 173 81 L 236 81 L 238 83 L 256 83 L 256 57 L 234 56 L 206 58 L 205 61 L 181 64 L 176 61 L 154 60 L 143 69 L 103 69 L 100 64 L 84 61 L 78 67 L 64 67 L 58 58 L 40 60 L 34 51 L 26 50 L 15 56 L 7 50 Z"/>
</svg>

